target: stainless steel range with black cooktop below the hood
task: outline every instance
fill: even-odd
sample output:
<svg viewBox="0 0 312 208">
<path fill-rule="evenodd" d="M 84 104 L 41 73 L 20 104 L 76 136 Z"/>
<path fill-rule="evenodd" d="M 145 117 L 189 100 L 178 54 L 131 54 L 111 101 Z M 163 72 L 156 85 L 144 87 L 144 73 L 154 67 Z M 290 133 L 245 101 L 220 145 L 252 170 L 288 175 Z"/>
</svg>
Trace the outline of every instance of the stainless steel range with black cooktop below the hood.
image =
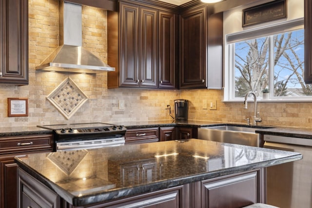
<svg viewBox="0 0 312 208">
<path fill-rule="evenodd" d="M 38 127 L 53 130 L 54 151 L 112 147 L 125 143 L 126 128 L 120 125 L 82 123 Z"/>
</svg>

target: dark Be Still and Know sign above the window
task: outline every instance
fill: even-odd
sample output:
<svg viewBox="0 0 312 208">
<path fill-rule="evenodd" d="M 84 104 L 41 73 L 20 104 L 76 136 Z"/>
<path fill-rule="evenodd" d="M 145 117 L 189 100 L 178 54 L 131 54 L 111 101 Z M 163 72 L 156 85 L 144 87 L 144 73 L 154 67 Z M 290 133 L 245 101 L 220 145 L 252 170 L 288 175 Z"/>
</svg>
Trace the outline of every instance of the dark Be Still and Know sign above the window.
<svg viewBox="0 0 312 208">
<path fill-rule="evenodd" d="M 287 0 L 274 0 L 244 9 L 242 11 L 242 26 L 283 18 L 287 18 Z"/>
</svg>

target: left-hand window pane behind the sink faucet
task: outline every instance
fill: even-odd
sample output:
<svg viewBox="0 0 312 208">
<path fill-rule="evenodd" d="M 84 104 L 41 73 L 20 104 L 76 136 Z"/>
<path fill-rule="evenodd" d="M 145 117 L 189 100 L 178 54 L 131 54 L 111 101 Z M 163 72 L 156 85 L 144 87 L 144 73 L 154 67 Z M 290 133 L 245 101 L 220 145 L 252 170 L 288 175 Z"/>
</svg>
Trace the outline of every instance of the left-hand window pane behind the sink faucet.
<svg viewBox="0 0 312 208">
<path fill-rule="evenodd" d="M 235 97 L 249 91 L 257 96 L 269 85 L 269 38 L 235 43 Z"/>
</svg>

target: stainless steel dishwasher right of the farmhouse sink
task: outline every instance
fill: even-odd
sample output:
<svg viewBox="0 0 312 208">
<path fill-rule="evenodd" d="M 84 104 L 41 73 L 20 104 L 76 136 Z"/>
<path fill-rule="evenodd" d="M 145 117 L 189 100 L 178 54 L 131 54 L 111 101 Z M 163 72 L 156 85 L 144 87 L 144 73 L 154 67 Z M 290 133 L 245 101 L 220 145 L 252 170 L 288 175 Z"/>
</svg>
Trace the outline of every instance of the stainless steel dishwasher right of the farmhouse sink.
<svg viewBox="0 0 312 208">
<path fill-rule="evenodd" d="M 302 160 L 267 168 L 267 204 L 312 208 L 312 139 L 264 134 L 264 148 L 296 151 Z"/>
</svg>

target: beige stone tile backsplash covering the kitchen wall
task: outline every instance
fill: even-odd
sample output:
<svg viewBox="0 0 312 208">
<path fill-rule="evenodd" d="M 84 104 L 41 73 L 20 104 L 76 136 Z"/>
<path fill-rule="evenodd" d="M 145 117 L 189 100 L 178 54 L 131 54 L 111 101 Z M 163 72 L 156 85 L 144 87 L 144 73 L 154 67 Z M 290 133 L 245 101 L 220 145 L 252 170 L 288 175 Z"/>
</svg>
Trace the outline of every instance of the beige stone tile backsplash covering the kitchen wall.
<svg viewBox="0 0 312 208">
<path fill-rule="evenodd" d="M 35 71 L 59 46 L 59 0 L 29 0 L 29 85 L 0 84 L 0 126 L 36 126 L 38 124 L 144 121 L 171 119 L 168 104 L 189 100 L 189 119 L 245 123 L 253 107 L 244 110 L 243 103 L 223 103 L 222 90 L 143 90 L 107 89 L 107 74 L 82 75 Z M 94 7 L 82 7 L 83 45 L 92 53 L 107 59 L 107 14 Z M 96 29 L 94 29 L 96 28 Z M 108 72 L 109 73 L 109 72 Z M 68 120 L 47 99 L 59 84 L 70 77 L 89 98 Z M 7 117 L 7 97 L 28 97 L 28 117 Z M 125 101 L 119 110 L 118 100 Z M 202 109 L 203 100 L 216 100 L 217 110 Z M 250 103 L 249 105 L 252 105 Z M 312 104 L 258 103 L 262 125 L 312 127 Z"/>
</svg>

